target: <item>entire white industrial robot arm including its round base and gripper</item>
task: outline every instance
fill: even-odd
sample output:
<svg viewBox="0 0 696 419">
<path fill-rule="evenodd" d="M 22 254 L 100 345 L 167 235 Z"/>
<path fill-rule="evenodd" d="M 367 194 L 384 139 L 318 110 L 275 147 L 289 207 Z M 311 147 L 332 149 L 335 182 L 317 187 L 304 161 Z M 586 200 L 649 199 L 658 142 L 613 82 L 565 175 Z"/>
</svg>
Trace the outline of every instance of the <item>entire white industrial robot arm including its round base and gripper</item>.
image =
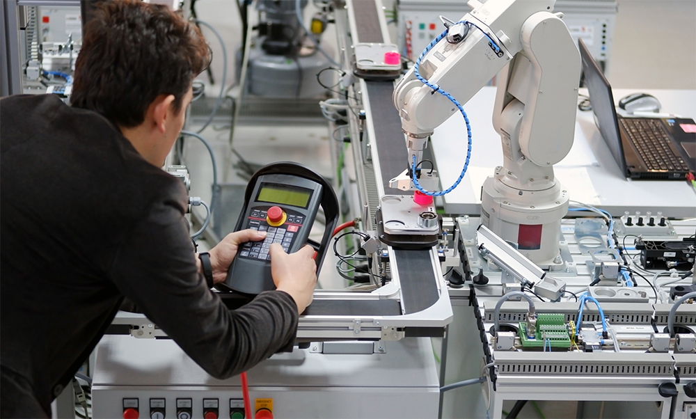
<svg viewBox="0 0 696 419">
<path fill-rule="evenodd" d="M 554 3 L 469 1 L 471 13 L 431 44 L 393 95 L 409 148 L 406 163 L 413 168 L 414 160 L 422 161 L 427 136 L 457 108 L 464 114 L 457 100 L 467 102 L 498 74 L 493 126 L 504 161 L 484 182 L 482 223 L 549 267 L 562 264 L 558 237 L 569 200 L 552 166 L 573 144 L 580 79 L 580 54 L 565 24 L 551 13 Z M 414 189 L 415 176 L 406 176 L 391 183 Z"/>
</svg>

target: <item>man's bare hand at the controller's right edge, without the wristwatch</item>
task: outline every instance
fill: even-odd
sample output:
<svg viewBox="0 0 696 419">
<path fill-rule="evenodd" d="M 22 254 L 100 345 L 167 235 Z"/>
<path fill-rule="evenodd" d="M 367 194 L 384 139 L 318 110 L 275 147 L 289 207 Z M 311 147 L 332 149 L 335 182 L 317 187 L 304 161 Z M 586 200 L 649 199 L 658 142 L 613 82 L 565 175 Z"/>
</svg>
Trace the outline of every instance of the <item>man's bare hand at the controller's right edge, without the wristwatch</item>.
<svg viewBox="0 0 696 419">
<path fill-rule="evenodd" d="M 271 244 L 271 276 L 279 291 L 287 292 L 301 314 L 312 303 L 314 287 L 317 285 L 317 264 L 314 248 L 304 246 L 288 255 L 280 244 Z"/>
</svg>

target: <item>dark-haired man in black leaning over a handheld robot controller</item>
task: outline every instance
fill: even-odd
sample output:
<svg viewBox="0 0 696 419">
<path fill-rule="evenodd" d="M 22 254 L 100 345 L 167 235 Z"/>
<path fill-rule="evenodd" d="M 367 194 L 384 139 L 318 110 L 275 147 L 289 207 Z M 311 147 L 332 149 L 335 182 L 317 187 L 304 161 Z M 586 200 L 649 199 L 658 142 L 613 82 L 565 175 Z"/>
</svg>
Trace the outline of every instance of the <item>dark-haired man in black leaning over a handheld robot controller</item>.
<svg viewBox="0 0 696 419">
<path fill-rule="evenodd" d="M 217 378 L 292 345 L 312 300 L 313 250 L 271 247 L 276 291 L 230 312 L 189 239 L 180 181 L 161 171 L 207 65 L 164 6 L 102 3 L 86 26 L 72 107 L 0 100 L 0 418 L 45 418 L 123 297 Z M 212 248 L 221 282 L 253 230 Z"/>
</svg>

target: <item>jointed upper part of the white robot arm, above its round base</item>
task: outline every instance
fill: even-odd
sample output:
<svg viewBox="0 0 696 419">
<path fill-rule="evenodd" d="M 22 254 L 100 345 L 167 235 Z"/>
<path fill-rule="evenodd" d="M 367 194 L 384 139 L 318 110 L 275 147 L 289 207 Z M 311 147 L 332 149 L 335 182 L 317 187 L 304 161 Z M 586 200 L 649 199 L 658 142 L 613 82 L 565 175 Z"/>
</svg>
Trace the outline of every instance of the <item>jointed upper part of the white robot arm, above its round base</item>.
<svg viewBox="0 0 696 419">
<path fill-rule="evenodd" d="M 519 145 L 506 145 L 513 150 L 505 153 L 506 168 L 519 158 L 551 166 L 567 155 L 573 141 L 580 58 L 566 26 L 549 11 L 554 3 L 470 1 L 473 11 L 460 19 L 467 23 L 450 26 L 445 39 L 419 58 L 418 68 L 400 80 L 393 95 L 407 137 L 409 166 L 413 156 L 422 159 L 427 136 L 457 111 L 434 87 L 465 103 L 508 64 L 498 78 L 494 124 L 503 136 L 509 138 L 514 128 L 520 135 L 510 139 Z M 463 40 L 454 34 L 461 33 L 462 26 Z M 515 100 L 522 104 L 515 109 L 521 111 L 521 126 L 515 122 L 519 118 L 503 115 Z"/>
</svg>

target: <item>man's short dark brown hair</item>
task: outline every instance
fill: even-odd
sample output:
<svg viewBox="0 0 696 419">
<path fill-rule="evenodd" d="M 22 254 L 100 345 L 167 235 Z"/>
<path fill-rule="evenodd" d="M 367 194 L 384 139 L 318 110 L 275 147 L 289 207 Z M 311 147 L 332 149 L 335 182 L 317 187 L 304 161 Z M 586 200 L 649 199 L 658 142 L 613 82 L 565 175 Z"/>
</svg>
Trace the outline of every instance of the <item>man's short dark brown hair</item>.
<svg viewBox="0 0 696 419">
<path fill-rule="evenodd" d="M 208 64 L 200 30 L 171 8 L 104 1 L 85 25 L 70 104 L 136 127 L 159 95 L 174 95 L 179 112 L 193 78 Z"/>
</svg>

